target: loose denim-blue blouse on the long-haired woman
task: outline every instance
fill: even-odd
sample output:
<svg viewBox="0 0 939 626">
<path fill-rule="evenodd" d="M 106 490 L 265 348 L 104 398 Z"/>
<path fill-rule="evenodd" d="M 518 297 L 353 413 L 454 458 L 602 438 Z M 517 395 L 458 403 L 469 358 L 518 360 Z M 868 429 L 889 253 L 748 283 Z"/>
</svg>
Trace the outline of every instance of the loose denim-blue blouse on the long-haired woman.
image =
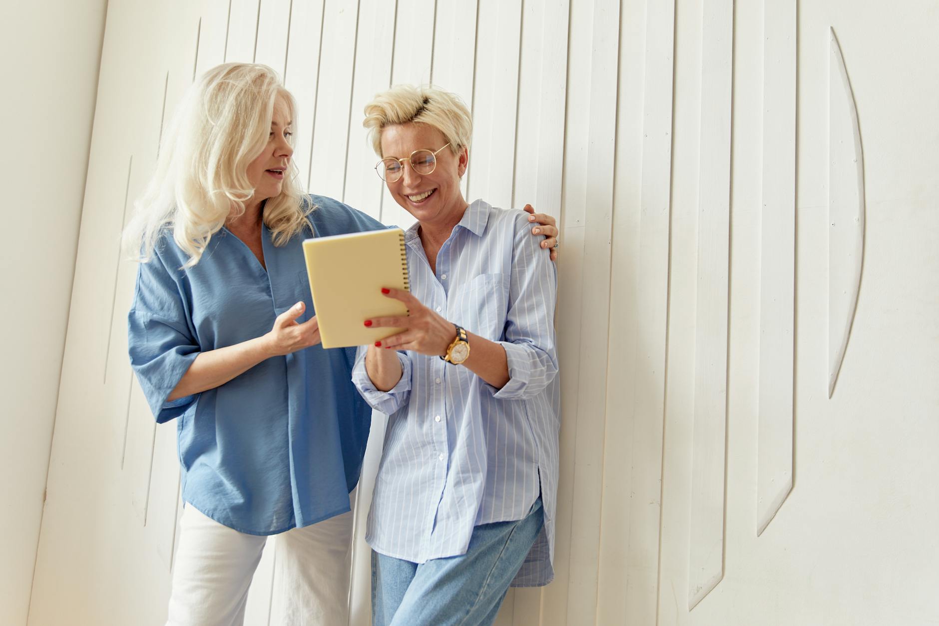
<svg viewBox="0 0 939 626">
<path fill-rule="evenodd" d="M 177 418 L 182 497 L 220 524 L 272 535 L 349 510 L 372 412 L 351 383 L 354 348 L 311 348 L 263 361 L 228 383 L 167 401 L 199 352 L 269 332 L 302 300 L 298 321 L 316 315 L 303 239 L 384 228 L 324 196 L 310 196 L 313 233 L 275 247 L 267 227 L 267 270 L 226 229 L 199 262 L 167 234 L 141 263 L 128 335 L 131 367 L 162 423 Z"/>
</svg>

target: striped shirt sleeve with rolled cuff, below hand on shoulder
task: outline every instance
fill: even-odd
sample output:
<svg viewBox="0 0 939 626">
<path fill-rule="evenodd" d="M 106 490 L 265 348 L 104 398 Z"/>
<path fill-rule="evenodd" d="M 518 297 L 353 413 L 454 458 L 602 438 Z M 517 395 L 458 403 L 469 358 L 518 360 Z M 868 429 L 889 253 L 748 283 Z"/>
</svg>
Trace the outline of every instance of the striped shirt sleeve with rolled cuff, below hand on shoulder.
<svg viewBox="0 0 939 626">
<path fill-rule="evenodd" d="M 486 384 L 494 398 L 531 398 L 558 374 L 554 335 L 557 271 L 541 241 L 531 236 L 525 217 L 516 220 L 505 340 L 499 342 L 505 349 L 509 382 L 501 389 Z"/>
</svg>

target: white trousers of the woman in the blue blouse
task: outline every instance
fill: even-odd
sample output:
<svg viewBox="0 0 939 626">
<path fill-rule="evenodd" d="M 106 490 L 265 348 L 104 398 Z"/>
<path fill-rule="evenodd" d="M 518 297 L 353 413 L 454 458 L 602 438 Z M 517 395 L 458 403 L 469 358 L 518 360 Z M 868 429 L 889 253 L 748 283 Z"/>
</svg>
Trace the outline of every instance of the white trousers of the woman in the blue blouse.
<svg viewBox="0 0 939 626">
<path fill-rule="evenodd" d="M 239 533 L 188 504 L 179 532 L 166 626 L 240 626 L 268 538 Z M 345 626 L 351 545 L 352 511 L 276 535 L 270 623 Z"/>
</svg>

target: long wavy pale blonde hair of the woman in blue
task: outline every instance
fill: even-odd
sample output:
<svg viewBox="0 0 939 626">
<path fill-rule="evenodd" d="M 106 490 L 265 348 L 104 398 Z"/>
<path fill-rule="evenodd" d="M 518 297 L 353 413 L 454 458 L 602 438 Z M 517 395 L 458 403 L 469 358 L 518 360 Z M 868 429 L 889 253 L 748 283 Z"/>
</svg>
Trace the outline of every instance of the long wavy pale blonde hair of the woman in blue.
<svg viewBox="0 0 939 626">
<path fill-rule="evenodd" d="M 248 165 L 268 143 L 278 97 L 296 125 L 296 101 L 265 65 L 219 65 L 187 89 L 164 129 L 156 171 L 123 234 L 131 258 L 148 260 L 163 232 L 172 230 L 189 256 L 185 267 L 199 262 L 212 235 L 225 220 L 242 214 L 254 196 Z M 312 207 L 300 202 L 293 160 L 285 174 L 280 196 L 265 201 L 263 209 L 274 245 L 284 245 L 310 225 Z"/>
</svg>

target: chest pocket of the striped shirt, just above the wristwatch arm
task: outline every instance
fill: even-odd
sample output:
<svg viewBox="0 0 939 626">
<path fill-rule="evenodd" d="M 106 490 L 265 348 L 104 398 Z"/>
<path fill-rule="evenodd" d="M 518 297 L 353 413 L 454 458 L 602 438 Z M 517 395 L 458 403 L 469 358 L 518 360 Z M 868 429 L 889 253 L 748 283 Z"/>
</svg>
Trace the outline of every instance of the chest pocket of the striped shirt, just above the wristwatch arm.
<svg viewBox="0 0 939 626">
<path fill-rule="evenodd" d="M 509 310 L 509 281 L 505 274 L 479 274 L 458 286 L 450 296 L 450 319 L 470 333 L 500 341 Z"/>
</svg>

